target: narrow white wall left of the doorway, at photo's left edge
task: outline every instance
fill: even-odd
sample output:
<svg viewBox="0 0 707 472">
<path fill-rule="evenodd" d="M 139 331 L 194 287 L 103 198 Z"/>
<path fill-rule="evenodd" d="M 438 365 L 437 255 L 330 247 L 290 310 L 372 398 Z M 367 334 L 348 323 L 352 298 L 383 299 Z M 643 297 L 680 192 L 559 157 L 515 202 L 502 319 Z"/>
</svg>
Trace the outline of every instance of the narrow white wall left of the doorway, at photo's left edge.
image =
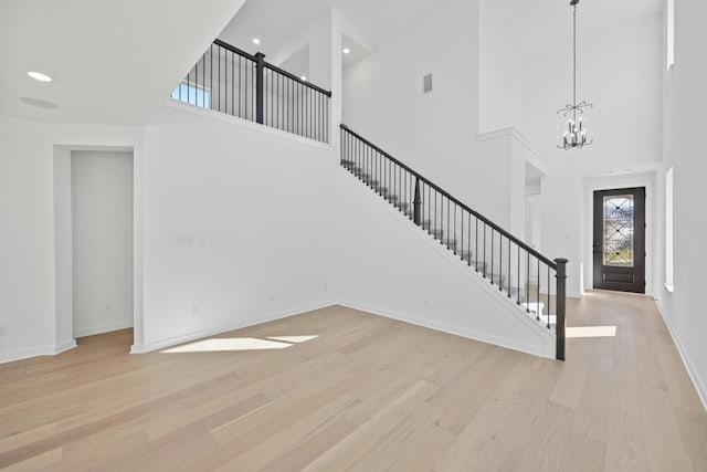
<svg viewBox="0 0 707 472">
<path fill-rule="evenodd" d="M 0 360 L 55 345 L 52 162 L 41 126 L 0 117 Z"/>
</svg>

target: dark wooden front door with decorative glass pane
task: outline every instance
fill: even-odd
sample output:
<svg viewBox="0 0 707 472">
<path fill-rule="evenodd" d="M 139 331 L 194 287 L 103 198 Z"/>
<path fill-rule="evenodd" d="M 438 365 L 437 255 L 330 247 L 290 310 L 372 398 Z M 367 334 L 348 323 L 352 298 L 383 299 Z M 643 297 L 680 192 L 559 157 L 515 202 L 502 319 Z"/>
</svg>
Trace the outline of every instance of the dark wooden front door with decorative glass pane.
<svg viewBox="0 0 707 472">
<path fill-rule="evenodd" d="M 594 192 L 594 289 L 645 293 L 645 188 Z"/>
</svg>

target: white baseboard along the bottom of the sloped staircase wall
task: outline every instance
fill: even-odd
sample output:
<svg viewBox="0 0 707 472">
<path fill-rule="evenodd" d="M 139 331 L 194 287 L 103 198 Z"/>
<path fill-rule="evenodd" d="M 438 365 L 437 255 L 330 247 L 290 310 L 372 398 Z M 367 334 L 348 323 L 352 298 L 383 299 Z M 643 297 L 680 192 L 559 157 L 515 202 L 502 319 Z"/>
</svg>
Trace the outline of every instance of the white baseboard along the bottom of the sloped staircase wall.
<svg viewBox="0 0 707 472">
<path fill-rule="evenodd" d="M 466 329 L 458 326 L 450 326 L 443 323 L 435 323 L 431 319 L 418 318 L 415 316 L 410 316 L 401 313 L 395 313 L 389 310 L 377 308 L 373 306 L 361 305 L 358 303 L 350 302 L 338 302 L 337 305 L 346 306 L 348 308 L 358 310 L 361 312 L 370 313 L 373 315 L 382 316 L 386 318 L 397 319 L 403 323 L 410 323 L 412 325 L 422 326 L 425 328 L 439 331 L 442 333 L 466 337 L 468 339 L 478 340 L 486 344 L 493 344 L 495 346 L 504 347 L 506 349 L 517 350 L 525 354 L 530 354 L 532 356 L 545 357 L 548 359 L 555 359 L 555 337 L 552 336 L 552 343 L 550 345 L 545 346 L 544 348 L 538 348 L 537 346 L 519 344 L 509 339 L 498 338 L 496 336 L 490 336 L 486 333 L 476 332 L 473 329 Z M 548 339 L 550 334 L 548 333 Z"/>
</svg>

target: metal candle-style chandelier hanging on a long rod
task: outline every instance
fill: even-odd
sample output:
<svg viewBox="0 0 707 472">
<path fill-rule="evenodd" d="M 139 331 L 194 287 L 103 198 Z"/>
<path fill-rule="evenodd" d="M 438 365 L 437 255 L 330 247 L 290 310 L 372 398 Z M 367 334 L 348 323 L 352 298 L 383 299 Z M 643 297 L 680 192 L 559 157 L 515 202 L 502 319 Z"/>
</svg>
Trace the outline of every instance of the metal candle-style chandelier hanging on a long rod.
<svg viewBox="0 0 707 472">
<path fill-rule="evenodd" d="M 572 7 L 572 104 L 562 109 L 558 109 L 560 117 L 560 149 L 573 149 L 589 146 L 593 143 L 587 123 L 589 108 L 594 105 L 585 101 L 577 103 L 577 6 L 580 0 L 571 0 Z"/>
</svg>

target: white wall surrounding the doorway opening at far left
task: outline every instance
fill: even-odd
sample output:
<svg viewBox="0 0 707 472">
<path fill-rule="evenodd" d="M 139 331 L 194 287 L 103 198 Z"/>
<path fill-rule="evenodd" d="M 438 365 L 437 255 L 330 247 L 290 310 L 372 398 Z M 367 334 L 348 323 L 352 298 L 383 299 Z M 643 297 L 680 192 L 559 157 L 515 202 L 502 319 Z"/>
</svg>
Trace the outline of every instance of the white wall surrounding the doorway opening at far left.
<svg viewBox="0 0 707 472">
<path fill-rule="evenodd" d="M 71 260 L 71 255 L 62 252 L 67 248 L 66 228 L 60 225 L 59 234 L 54 218 L 55 203 L 66 214 L 66 200 L 55 201 L 55 190 L 62 191 L 54 186 L 57 177 L 67 176 L 67 167 L 57 168 L 55 175 L 55 157 L 66 164 L 66 149 L 99 146 L 135 149 L 139 187 L 140 128 L 40 124 L 0 117 L 0 326 L 9 328 L 9 336 L 0 338 L 0 361 L 55 354 L 74 345 L 66 303 L 71 292 L 65 292 L 71 284 L 61 279 L 67 273 L 62 261 Z M 135 218 L 135 265 L 139 272 L 139 208 Z M 141 336 L 141 293 L 138 276 L 136 338 Z"/>
</svg>

